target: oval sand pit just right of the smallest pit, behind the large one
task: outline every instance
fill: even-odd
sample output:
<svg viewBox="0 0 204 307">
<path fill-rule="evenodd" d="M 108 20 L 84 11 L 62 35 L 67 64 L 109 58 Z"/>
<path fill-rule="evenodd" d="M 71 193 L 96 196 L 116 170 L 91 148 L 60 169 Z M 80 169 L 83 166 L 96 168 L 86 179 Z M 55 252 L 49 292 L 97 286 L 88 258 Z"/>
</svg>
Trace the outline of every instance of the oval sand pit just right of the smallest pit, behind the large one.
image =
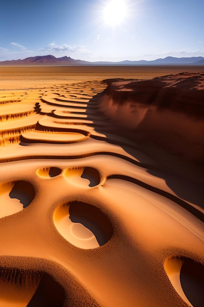
<svg viewBox="0 0 204 307">
<path fill-rule="evenodd" d="M 79 186 L 96 186 L 101 181 L 101 176 L 98 170 L 92 167 L 72 167 L 64 172 L 65 177 L 71 183 Z"/>
</svg>

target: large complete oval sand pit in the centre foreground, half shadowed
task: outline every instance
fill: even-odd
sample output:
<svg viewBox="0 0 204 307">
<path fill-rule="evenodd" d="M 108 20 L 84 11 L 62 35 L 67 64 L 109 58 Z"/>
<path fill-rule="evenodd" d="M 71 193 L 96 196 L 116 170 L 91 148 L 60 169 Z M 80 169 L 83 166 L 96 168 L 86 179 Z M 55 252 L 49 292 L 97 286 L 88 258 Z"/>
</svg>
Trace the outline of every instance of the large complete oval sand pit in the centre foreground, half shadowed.
<svg viewBox="0 0 204 307">
<path fill-rule="evenodd" d="M 66 240 L 83 249 L 104 245 L 113 234 L 111 222 L 99 208 L 79 201 L 59 205 L 54 224 Z"/>
</svg>

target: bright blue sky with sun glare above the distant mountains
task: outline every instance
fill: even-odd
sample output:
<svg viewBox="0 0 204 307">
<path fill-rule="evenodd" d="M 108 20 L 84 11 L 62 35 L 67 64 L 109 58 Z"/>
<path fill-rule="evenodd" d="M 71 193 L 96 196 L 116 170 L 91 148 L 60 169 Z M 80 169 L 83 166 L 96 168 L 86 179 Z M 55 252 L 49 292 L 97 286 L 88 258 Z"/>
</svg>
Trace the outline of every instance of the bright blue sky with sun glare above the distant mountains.
<svg viewBox="0 0 204 307">
<path fill-rule="evenodd" d="M 204 56 L 204 0 L 4 0 L 0 13 L 0 61 Z"/>
</svg>

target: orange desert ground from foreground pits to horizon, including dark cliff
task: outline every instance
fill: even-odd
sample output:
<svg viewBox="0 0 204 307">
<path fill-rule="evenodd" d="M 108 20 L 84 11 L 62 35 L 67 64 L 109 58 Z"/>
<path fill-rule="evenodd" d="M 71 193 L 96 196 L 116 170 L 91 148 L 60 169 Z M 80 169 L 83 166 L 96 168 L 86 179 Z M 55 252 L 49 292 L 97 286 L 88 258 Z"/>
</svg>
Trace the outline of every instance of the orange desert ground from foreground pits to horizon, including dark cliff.
<svg viewBox="0 0 204 307">
<path fill-rule="evenodd" d="M 0 306 L 204 306 L 203 71 L 0 67 Z"/>
</svg>

